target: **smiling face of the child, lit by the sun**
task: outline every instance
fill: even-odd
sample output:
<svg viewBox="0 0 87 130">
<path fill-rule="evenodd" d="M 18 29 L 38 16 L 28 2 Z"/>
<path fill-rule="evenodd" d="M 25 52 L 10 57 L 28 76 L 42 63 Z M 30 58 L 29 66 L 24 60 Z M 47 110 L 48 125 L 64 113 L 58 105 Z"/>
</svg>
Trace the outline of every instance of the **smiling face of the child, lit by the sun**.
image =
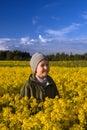
<svg viewBox="0 0 87 130">
<path fill-rule="evenodd" d="M 36 69 L 36 75 L 39 77 L 39 78 L 45 78 L 48 74 L 50 70 L 50 67 L 49 67 L 49 61 L 47 60 L 42 60 L 39 62 L 39 64 L 37 65 L 37 69 Z"/>
</svg>

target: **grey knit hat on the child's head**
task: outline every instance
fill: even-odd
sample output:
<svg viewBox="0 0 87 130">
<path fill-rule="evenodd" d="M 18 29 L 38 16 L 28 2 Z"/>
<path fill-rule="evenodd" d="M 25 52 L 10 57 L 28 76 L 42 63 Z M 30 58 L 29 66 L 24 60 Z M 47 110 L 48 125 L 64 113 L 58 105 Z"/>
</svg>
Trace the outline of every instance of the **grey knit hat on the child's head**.
<svg viewBox="0 0 87 130">
<path fill-rule="evenodd" d="M 36 52 L 35 54 L 32 55 L 31 60 L 30 60 L 30 66 L 34 72 L 36 70 L 38 63 L 41 60 L 48 60 L 48 58 L 45 55 L 38 53 L 38 52 Z"/>
</svg>

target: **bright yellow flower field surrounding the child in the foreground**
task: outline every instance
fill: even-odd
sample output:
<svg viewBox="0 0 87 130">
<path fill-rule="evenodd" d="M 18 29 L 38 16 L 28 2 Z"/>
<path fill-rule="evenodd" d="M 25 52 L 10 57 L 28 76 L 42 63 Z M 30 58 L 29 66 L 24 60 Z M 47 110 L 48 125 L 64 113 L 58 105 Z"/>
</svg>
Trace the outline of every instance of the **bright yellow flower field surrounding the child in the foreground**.
<svg viewBox="0 0 87 130">
<path fill-rule="evenodd" d="M 61 98 L 37 104 L 20 89 L 30 67 L 0 67 L 0 130 L 87 130 L 87 68 L 52 67 Z"/>
</svg>

